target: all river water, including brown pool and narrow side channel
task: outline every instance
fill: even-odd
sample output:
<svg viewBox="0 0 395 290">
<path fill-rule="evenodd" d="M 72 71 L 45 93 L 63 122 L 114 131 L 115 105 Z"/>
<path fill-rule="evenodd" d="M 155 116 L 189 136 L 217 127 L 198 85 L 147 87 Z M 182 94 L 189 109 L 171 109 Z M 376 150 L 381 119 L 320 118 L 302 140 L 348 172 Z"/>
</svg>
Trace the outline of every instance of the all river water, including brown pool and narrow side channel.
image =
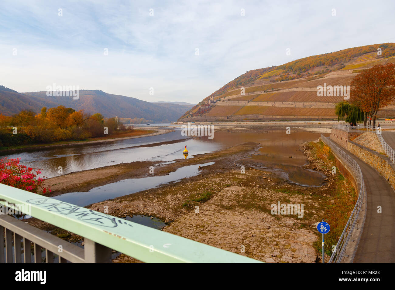
<svg viewBox="0 0 395 290">
<path fill-rule="evenodd" d="M 318 139 L 319 133 L 309 131 L 292 131 L 286 134 L 286 129 L 245 129 L 217 130 L 213 139 L 207 137 L 190 138 L 181 135 L 181 130 L 152 137 L 141 137 L 128 140 L 106 142 L 102 144 L 85 144 L 71 147 L 51 148 L 8 155 L 9 158 L 21 157 L 21 163 L 29 167 L 42 168 L 43 175 L 54 177 L 60 175 L 58 168 L 62 167 L 63 174 L 88 170 L 98 167 L 129 163 L 134 161 L 152 161 L 155 163 L 174 162 L 184 158 L 182 150 L 187 146 L 189 155 L 204 154 L 235 146 L 245 142 L 256 142 L 260 149 L 251 154 L 251 159 L 260 168 L 276 172 L 285 179 L 303 186 L 320 186 L 325 176 L 301 168 L 306 163 L 306 157 L 300 152 L 299 144 Z M 170 144 L 158 144 L 169 142 Z M 153 144 L 147 147 L 148 144 Z M 66 193 L 56 196 L 57 199 L 71 202 L 80 206 L 115 198 L 122 195 L 156 187 L 170 181 L 199 174 L 197 165 L 187 166 L 172 172 L 168 176 L 150 176 L 147 178 L 127 179 L 91 189 L 87 193 Z"/>
</svg>

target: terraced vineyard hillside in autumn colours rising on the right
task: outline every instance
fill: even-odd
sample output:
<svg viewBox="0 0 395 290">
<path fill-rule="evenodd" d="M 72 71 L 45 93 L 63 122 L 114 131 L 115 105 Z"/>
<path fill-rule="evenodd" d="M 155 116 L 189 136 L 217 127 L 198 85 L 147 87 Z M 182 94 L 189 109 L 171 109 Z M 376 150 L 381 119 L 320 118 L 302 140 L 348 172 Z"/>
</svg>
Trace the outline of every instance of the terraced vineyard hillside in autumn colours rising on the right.
<svg viewBox="0 0 395 290">
<path fill-rule="evenodd" d="M 179 121 L 337 119 L 335 105 L 344 97 L 318 96 L 317 86 L 348 86 L 363 69 L 389 62 L 395 62 L 395 43 L 354 47 L 254 69 L 203 99 Z M 381 110 L 379 116 L 395 116 L 395 105 Z"/>
</svg>

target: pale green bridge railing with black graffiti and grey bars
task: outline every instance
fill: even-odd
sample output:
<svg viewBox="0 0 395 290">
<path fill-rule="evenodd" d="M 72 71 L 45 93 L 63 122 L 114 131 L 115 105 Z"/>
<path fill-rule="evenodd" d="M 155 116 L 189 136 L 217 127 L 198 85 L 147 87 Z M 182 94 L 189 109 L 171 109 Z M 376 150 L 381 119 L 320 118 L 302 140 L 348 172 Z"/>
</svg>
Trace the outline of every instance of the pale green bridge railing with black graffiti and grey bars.
<svg viewBox="0 0 395 290">
<path fill-rule="evenodd" d="M 0 183 L 2 205 L 10 215 L 0 215 L 0 263 L 111 262 L 112 250 L 143 262 L 260 262 Z M 18 211 L 82 236 L 84 248 L 13 217 Z"/>
</svg>

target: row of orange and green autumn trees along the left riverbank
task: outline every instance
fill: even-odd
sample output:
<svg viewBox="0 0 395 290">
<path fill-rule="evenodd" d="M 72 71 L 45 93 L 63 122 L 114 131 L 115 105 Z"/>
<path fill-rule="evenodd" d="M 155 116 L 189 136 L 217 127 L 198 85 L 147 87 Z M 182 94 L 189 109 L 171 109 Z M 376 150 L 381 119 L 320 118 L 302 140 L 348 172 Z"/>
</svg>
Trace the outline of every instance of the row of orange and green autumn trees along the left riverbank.
<svg viewBox="0 0 395 290">
<path fill-rule="evenodd" d="M 0 147 L 85 140 L 125 129 L 115 118 L 104 118 L 100 113 L 90 115 L 62 105 L 43 107 L 39 114 L 22 110 L 13 116 L 0 114 Z"/>
</svg>

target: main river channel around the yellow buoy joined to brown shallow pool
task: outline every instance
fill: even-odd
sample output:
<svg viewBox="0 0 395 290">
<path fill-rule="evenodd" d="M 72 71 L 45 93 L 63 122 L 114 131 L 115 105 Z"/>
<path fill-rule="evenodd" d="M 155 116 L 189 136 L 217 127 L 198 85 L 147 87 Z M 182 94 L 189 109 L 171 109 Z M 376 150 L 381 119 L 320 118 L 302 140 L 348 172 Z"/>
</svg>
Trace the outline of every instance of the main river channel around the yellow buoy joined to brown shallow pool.
<svg viewBox="0 0 395 290">
<path fill-rule="evenodd" d="M 305 155 L 299 151 L 299 144 L 319 137 L 319 133 L 308 131 L 292 130 L 291 134 L 286 134 L 285 126 L 284 129 L 264 128 L 244 131 L 216 129 L 213 139 L 182 136 L 181 129 L 176 129 L 174 132 L 157 136 L 15 153 L 8 157 L 21 157 L 21 163 L 24 165 L 42 168 L 43 175 L 53 177 L 60 175 L 58 167 L 62 167 L 63 174 L 66 174 L 135 161 L 172 163 L 182 156 L 184 159 L 193 158 L 198 154 L 214 152 L 237 144 L 256 142 L 260 143 L 261 148 L 251 156 L 253 161 L 262 163 L 263 166 L 279 168 L 286 172 L 287 178 L 293 182 L 316 185 L 313 179 L 322 180 L 319 174 L 296 168 L 306 163 Z M 179 139 L 183 140 L 174 144 L 136 147 Z M 188 146 L 189 155 L 182 153 L 184 146 Z"/>
</svg>

